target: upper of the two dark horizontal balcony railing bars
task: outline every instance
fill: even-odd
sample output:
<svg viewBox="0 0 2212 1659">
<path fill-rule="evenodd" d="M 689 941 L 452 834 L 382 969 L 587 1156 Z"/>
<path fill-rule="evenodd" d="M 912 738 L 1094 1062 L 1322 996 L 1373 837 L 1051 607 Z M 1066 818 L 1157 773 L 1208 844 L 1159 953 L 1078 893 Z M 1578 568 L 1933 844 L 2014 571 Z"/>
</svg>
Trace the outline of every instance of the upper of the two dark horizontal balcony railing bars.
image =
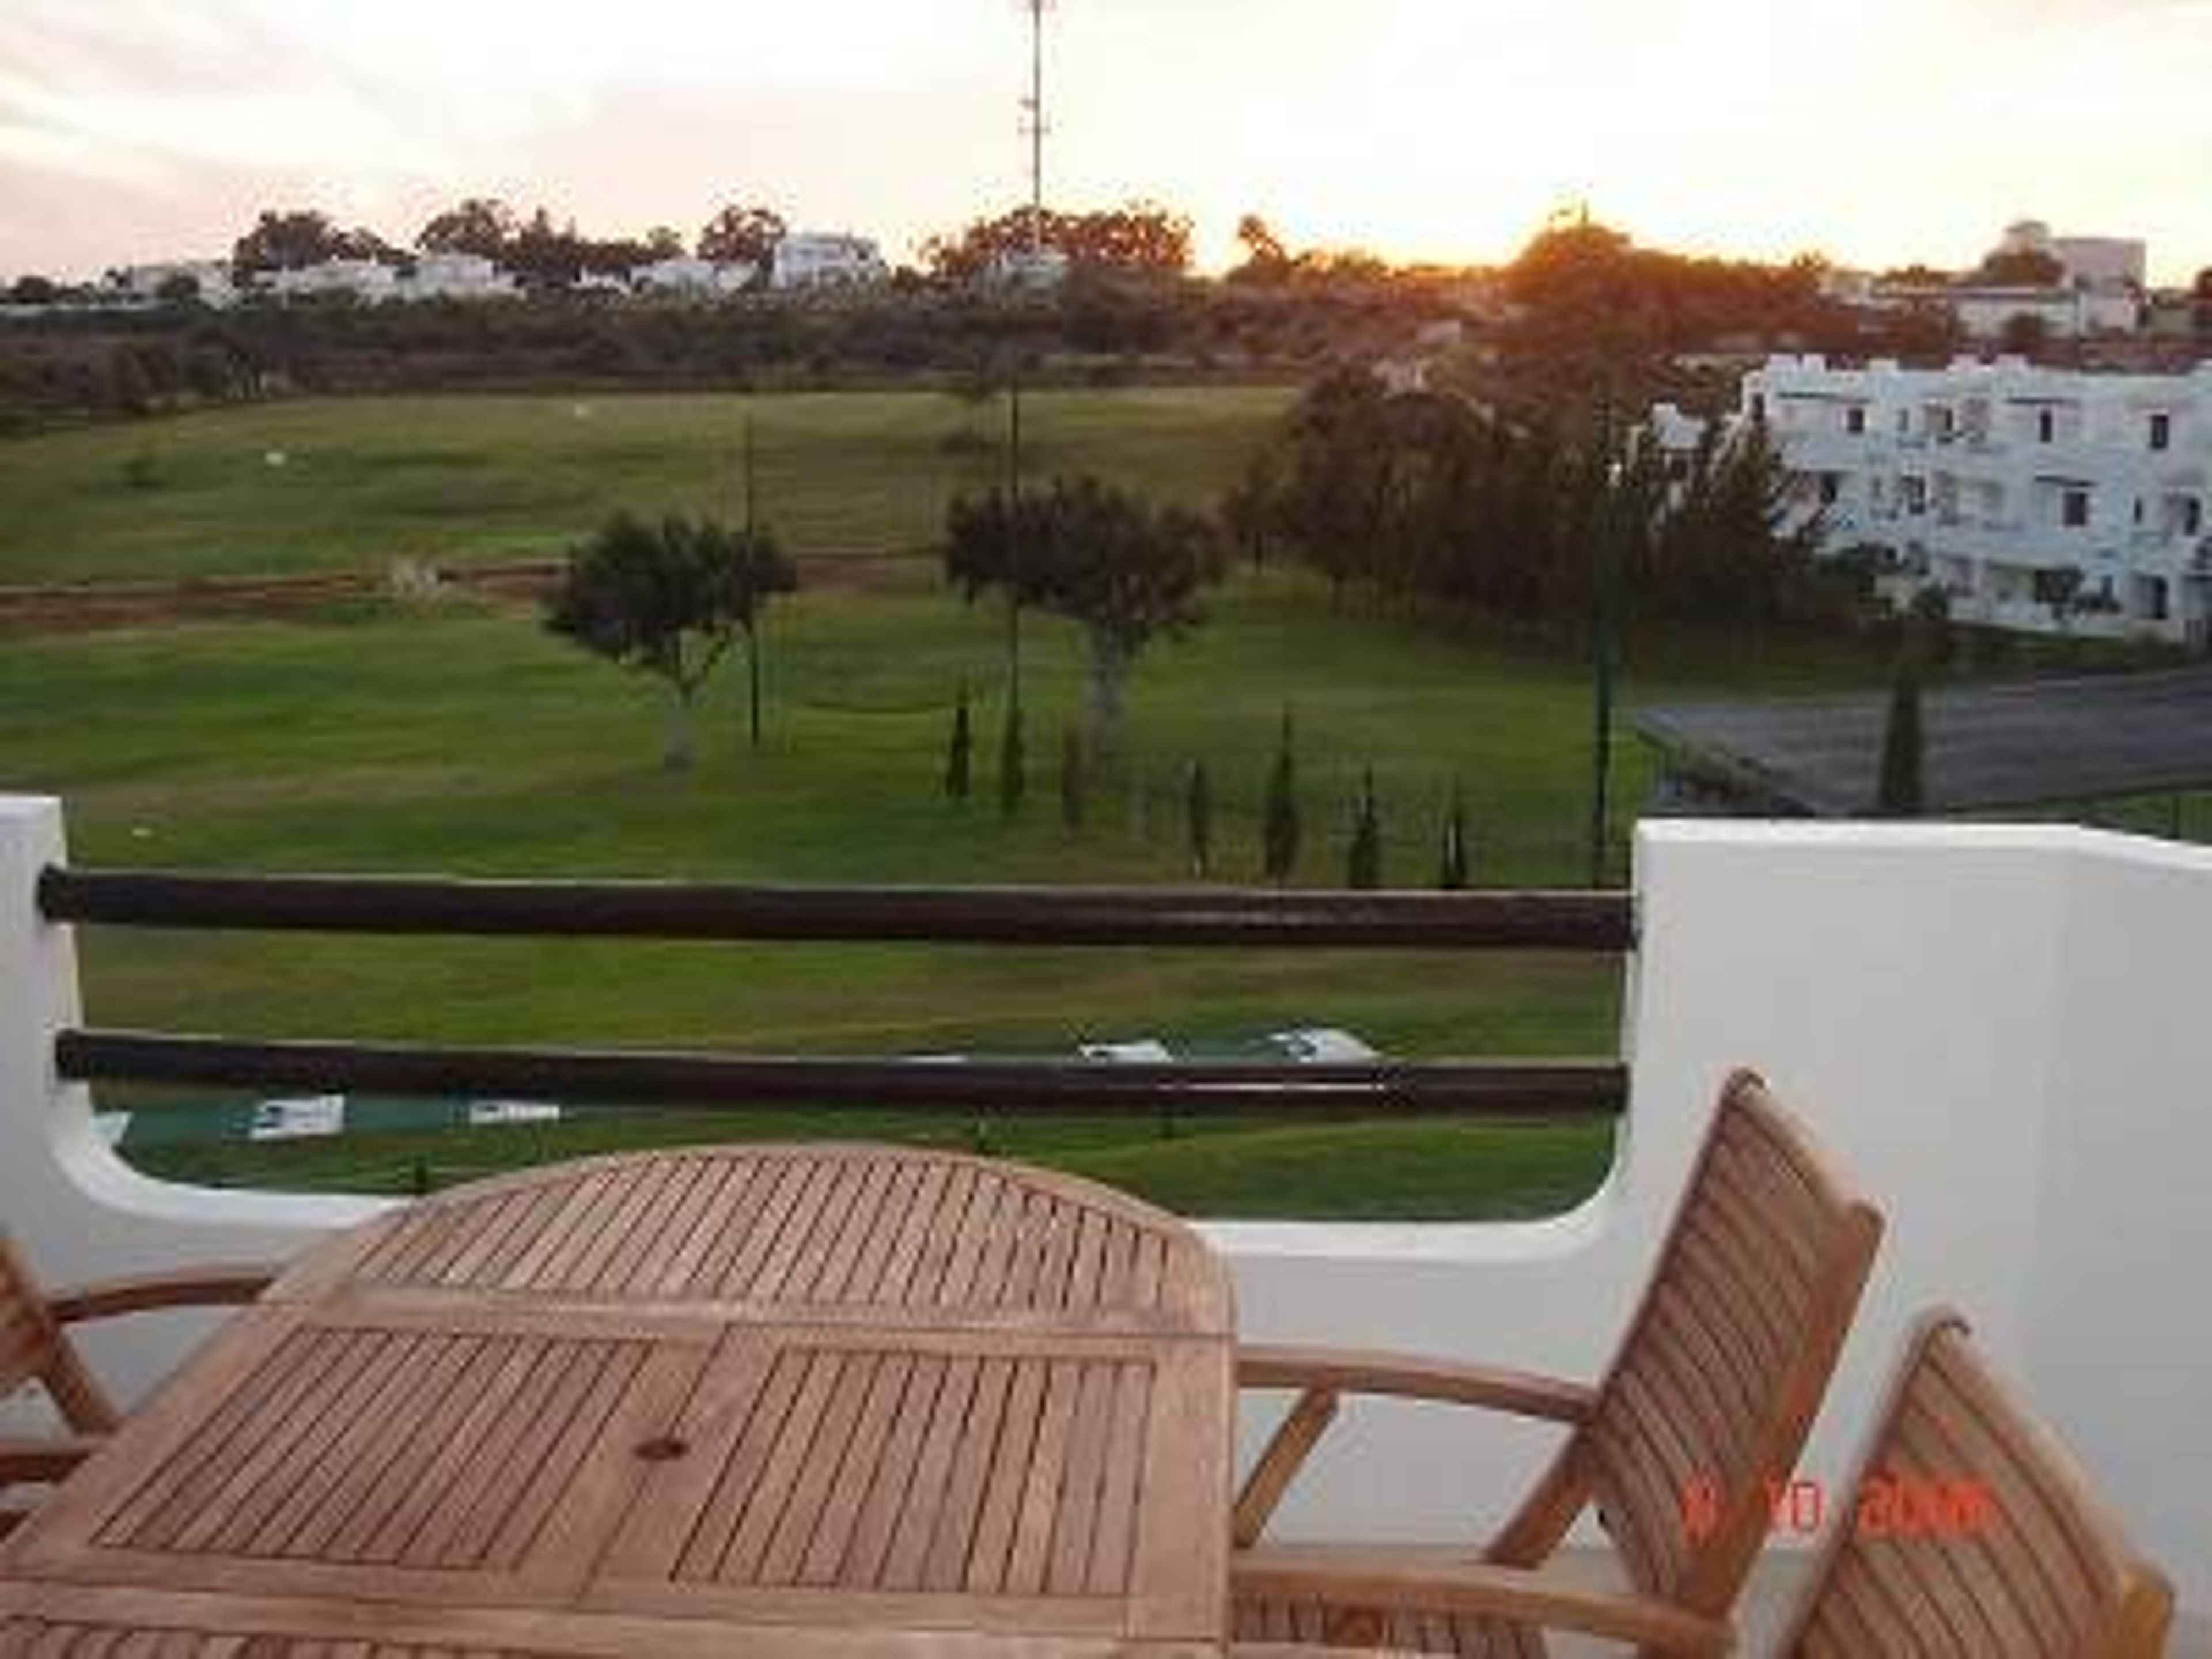
<svg viewBox="0 0 2212 1659">
<path fill-rule="evenodd" d="M 745 887 L 416 876 L 210 876 L 49 865 L 53 922 L 323 933 L 1619 953 L 1626 891 Z"/>
</svg>

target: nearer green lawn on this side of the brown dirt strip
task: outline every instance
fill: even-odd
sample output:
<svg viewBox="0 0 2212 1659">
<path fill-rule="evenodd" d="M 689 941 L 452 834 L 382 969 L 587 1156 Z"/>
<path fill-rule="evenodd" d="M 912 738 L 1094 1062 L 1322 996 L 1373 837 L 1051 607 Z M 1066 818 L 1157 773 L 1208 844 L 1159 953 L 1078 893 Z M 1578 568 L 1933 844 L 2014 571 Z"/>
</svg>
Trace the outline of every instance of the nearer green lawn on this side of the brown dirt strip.
<svg viewBox="0 0 2212 1659">
<path fill-rule="evenodd" d="M 1294 706 L 1301 876 L 1343 869 L 1349 796 L 1374 765 L 1389 878 L 1425 885 L 1451 781 L 1478 878 L 1571 883 L 1584 867 L 1586 684 L 1573 657 L 1371 615 L 1332 615 L 1301 577 L 1241 577 L 1212 622 L 1137 675 L 1128 759 L 1079 834 L 1060 825 L 1057 723 L 1079 706 L 1071 630 L 1031 626 L 1029 810 L 989 805 L 995 613 L 942 591 L 801 595 L 770 639 L 770 741 L 745 752 L 737 679 L 701 765 L 659 765 L 648 681 L 476 604 L 369 606 L 294 622 L 15 641 L 0 655 L 13 790 L 66 796 L 82 863 L 212 869 L 447 869 L 759 880 L 1181 880 L 1190 759 L 1214 776 L 1219 874 L 1259 863 L 1259 794 Z M 1849 664 L 1785 653 L 1832 681 Z M 1756 672 L 1728 653 L 1725 679 Z M 1699 675 L 1692 661 L 1692 684 Z M 1778 668 L 1770 668 L 1778 672 Z M 980 688 L 984 794 L 938 787 L 953 686 Z M 1621 752 L 1635 803 L 1646 757 Z M 1400 1055 L 1606 1053 L 1619 967 L 1402 953 L 982 951 L 916 947 L 513 945 L 126 933 L 84 938 L 91 1015 L 239 1035 L 440 1042 L 726 1044 L 792 1053 L 1026 1051 L 1082 1040 L 1237 1037 L 1329 1022 Z M 133 1104 L 128 1095 L 124 1104 Z M 776 1115 L 684 1130 L 794 1133 Z M 883 1121 L 843 1124 L 887 1133 Z M 993 1126 L 1048 1157 L 1208 1214 L 1498 1214 L 1555 1208 L 1604 1170 L 1601 1126 Z M 582 1150 L 606 1126 L 549 1130 Z M 635 1126 L 633 1135 L 666 1135 Z M 925 1139 L 967 1141 L 933 1117 Z M 403 1186 L 524 1157 L 538 1141 L 440 1137 L 164 1155 L 221 1179 Z M 504 1150 L 500 1150 L 504 1148 Z"/>
</svg>

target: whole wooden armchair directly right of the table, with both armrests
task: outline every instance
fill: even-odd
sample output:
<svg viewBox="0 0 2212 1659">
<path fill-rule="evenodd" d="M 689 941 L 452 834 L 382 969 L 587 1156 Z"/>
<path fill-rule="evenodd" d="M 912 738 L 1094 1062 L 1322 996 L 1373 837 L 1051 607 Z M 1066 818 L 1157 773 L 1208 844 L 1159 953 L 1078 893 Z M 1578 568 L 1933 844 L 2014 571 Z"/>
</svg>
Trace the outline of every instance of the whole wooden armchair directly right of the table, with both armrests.
<svg viewBox="0 0 2212 1659">
<path fill-rule="evenodd" d="M 1542 1655 L 1540 1628 L 1575 1628 L 1661 1652 L 1723 1650 L 1767 1533 L 1767 1482 L 1796 1467 L 1880 1234 L 1880 1214 L 1739 1071 L 1595 1387 L 1391 1354 L 1243 1349 L 1243 1387 L 1298 1398 L 1237 1500 L 1239 1639 Z M 1564 1425 L 1568 1438 L 1480 1559 L 1252 1548 L 1343 1394 L 1486 1407 Z M 1628 1595 L 1537 1571 L 1593 1504 Z M 1407 1599 L 1409 1584 L 1420 1597 Z"/>
</svg>

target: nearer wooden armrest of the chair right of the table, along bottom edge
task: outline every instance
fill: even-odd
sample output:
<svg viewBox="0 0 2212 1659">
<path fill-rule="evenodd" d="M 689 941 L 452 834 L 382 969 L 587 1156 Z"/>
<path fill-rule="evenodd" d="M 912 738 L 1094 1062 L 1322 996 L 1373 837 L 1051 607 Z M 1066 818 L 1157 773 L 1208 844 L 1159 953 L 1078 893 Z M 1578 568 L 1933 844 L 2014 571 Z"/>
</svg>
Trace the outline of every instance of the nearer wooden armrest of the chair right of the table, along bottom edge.
<svg viewBox="0 0 2212 1659">
<path fill-rule="evenodd" d="M 1394 1562 L 1363 1551 L 1272 1546 L 1232 1557 L 1230 1575 L 1239 1599 L 1321 1601 L 1347 1613 L 1493 1617 L 1579 1630 L 1681 1659 L 1717 1659 L 1730 1652 L 1736 1639 L 1725 1619 L 1708 1619 L 1666 1601 L 1586 1590 L 1517 1566 L 1451 1562 L 1436 1555 Z M 1380 1637 L 1378 1630 L 1376 1646 Z"/>
</svg>

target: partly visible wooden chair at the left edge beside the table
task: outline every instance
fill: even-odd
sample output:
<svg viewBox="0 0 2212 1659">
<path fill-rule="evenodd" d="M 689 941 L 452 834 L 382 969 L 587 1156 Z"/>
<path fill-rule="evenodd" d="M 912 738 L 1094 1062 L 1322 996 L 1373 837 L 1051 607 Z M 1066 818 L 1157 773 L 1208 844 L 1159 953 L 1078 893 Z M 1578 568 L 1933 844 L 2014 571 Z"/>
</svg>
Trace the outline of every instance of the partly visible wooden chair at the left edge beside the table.
<svg viewBox="0 0 2212 1659">
<path fill-rule="evenodd" d="M 0 1394 L 35 1378 L 71 1429 L 51 1438 L 0 1436 L 0 1493 L 27 1482 L 60 1480 L 122 1422 L 115 1400 L 69 1340 L 71 1325 L 157 1307 L 250 1303 L 268 1290 L 272 1276 L 268 1267 L 188 1267 L 108 1279 L 49 1296 L 15 1241 L 0 1232 Z M 22 1509 L 0 1504 L 0 1533 L 22 1515 Z"/>
</svg>

